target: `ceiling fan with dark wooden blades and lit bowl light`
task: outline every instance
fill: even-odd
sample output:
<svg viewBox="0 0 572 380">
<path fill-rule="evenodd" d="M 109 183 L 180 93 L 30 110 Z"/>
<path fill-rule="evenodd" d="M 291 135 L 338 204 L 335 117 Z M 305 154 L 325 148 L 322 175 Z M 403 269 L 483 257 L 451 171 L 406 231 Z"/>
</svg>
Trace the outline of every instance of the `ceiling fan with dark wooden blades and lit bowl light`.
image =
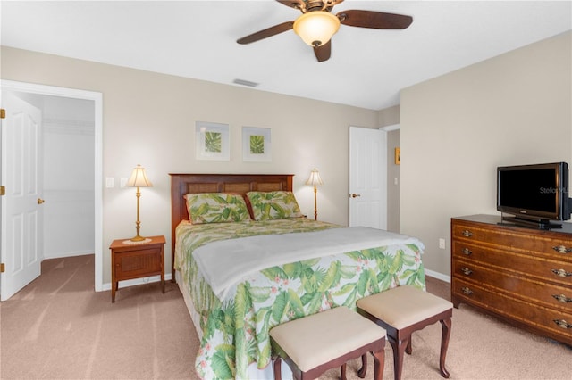
<svg viewBox="0 0 572 380">
<path fill-rule="evenodd" d="M 406 29 L 413 18 L 395 13 L 374 11 L 341 11 L 333 15 L 332 8 L 343 0 L 276 0 L 280 4 L 290 6 L 302 12 L 295 21 L 286 21 L 282 24 L 257 31 L 236 42 L 241 45 L 250 44 L 267 37 L 294 29 L 302 40 L 314 48 L 315 58 L 318 62 L 327 61 L 332 54 L 332 36 L 340 28 L 340 24 L 350 27 L 371 29 Z"/>
</svg>

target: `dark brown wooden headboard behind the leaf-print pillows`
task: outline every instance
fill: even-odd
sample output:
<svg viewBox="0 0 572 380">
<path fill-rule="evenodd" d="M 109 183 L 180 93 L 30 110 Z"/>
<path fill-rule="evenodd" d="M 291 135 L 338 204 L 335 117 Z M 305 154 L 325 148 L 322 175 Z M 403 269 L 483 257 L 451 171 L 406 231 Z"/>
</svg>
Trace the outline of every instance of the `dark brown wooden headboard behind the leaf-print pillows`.
<svg viewBox="0 0 572 380">
<path fill-rule="evenodd" d="M 171 267 L 175 281 L 175 229 L 189 219 L 183 196 L 193 193 L 238 193 L 249 191 L 292 191 L 293 174 L 174 174 L 171 176 Z"/>
</svg>

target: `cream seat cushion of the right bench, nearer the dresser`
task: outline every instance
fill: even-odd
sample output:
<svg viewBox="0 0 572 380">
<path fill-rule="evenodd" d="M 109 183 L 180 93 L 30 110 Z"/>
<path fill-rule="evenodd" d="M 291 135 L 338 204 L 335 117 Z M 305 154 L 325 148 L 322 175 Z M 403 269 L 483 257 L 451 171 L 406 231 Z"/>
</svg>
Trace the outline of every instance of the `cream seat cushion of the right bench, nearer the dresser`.
<svg viewBox="0 0 572 380">
<path fill-rule="evenodd" d="M 357 300 L 357 307 L 402 329 L 452 309 L 453 304 L 415 286 L 403 285 Z"/>
</svg>

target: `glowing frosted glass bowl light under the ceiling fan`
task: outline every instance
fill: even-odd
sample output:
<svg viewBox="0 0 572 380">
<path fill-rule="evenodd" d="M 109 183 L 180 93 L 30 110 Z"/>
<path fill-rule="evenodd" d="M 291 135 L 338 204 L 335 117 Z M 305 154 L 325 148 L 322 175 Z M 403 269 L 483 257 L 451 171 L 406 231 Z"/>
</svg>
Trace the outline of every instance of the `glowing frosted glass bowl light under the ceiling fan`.
<svg viewBox="0 0 572 380">
<path fill-rule="evenodd" d="M 330 12 L 313 11 L 302 14 L 293 26 L 294 31 L 310 46 L 324 45 L 340 29 L 340 20 Z"/>
</svg>

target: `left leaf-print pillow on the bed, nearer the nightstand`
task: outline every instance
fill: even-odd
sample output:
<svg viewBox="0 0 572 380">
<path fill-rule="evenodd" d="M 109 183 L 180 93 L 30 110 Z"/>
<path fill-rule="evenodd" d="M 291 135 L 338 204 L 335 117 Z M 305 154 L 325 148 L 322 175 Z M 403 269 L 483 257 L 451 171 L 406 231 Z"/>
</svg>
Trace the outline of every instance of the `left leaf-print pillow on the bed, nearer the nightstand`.
<svg viewBox="0 0 572 380">
<path fill-rule="evenodd" d="M 186 194 L 187 211 L 193 224 L 235 222 L 250 219 L 240 194 Z"/>
</svg>

